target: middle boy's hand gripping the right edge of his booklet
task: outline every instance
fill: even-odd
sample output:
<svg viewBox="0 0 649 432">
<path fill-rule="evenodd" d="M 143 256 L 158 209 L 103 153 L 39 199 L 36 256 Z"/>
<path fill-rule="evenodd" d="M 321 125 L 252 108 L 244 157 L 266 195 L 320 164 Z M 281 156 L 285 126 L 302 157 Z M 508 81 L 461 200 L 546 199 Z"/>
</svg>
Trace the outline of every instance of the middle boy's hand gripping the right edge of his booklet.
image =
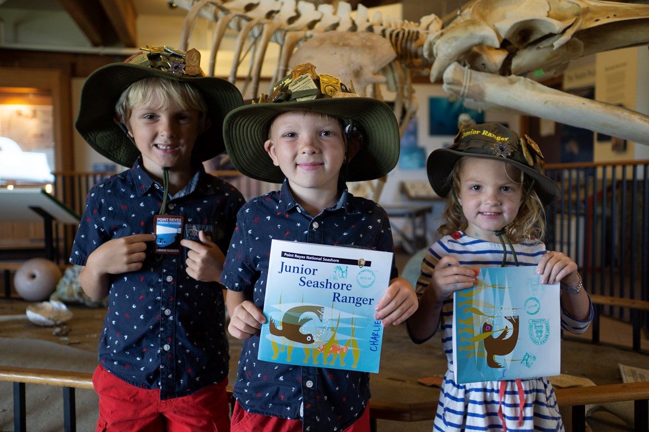
<svg viewBox="0 0 649 432">
<path fill-rule="evenodd" d="M 383 320 L 383 326 L 401 324 L 417 310 L 417 294 L 404 278 L 390 281 L 387 291 L 376 304 L 374 319 Z"/>
</svg>

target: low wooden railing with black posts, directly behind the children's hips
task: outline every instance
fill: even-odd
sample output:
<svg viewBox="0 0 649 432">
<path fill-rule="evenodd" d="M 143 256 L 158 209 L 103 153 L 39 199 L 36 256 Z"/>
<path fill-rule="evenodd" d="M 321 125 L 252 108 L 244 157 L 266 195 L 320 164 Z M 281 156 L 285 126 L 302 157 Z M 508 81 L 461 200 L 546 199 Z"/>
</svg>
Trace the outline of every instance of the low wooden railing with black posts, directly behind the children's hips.
<svg viewBox="0 0 649 432">
<path fill-rule="evenodd" d="M 75 389 L 93 389 L 90 372 L 65 372 L 50 369 L 32 369 L 0 366 L 0 381 L 14 383 L 14 432 L 27 430 L 25 412 L 25 384 L 54 385 L 63 387 L 64 427 L 66 432 L 75 432 Z M 634 430 L 646 432 L 649 429 L 649 383 L 628 383 L 574 387 L 554 390 L 560 409 L 572 407 L 572 431 L 585 431 L 585 405 L 634 401 Z M 232 387 L 228 386 L 230 403 L 234 402 Z M 370 400 L 369 414 L 371 428 L 378 427 L 377 420 L 394 422 L 421 422 L 434 420 L 437 400 L 404 403 Z"/>
</svg>

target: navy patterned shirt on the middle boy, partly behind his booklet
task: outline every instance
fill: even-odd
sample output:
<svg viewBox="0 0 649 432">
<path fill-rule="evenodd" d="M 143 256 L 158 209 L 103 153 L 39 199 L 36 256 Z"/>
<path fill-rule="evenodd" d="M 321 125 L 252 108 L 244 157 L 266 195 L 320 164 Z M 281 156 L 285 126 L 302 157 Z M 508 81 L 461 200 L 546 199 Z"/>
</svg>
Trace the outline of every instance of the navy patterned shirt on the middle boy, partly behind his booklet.
<svg viewBox="0 0 649 432">
<path fill-rule="evenodd" d="M 244 291 L 263 309 L 271 240 L 356 245 L 393 252 L 386 211 L 343 191 L 336 206 L 312 217 L 281 191 L 257 197 L 239 211 L 221 282 Z M 397 277 L 393 265 L 391 277 Z M 369 374 L 293 366 L 257 359 L 259 337 L 243 341 L 234 396 L 243 409 L 302 420 L 304 431 L 342 431 L 360 417 L 370 397 Z"/>
</svg>

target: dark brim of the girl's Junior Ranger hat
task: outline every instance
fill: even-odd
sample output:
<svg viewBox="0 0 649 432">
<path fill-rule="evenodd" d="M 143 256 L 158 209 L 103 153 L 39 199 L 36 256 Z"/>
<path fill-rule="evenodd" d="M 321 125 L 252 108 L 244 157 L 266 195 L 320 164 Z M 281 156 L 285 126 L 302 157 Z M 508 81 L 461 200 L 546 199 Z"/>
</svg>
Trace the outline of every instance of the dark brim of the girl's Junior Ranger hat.
<svg viewBox="0 0 649 432">
<path fill-rule="evenodd" d="M 450 192 L 452 187 L 450 174 L 452 173 L 456 162 L 458 162 L 459 158 L 462 156 L 498 160 L 520 169 L 534 179 L 534 189 L 537 191 L 537 195 L 544 207 L 548 206 L 561 196 L 559 186 L 557 186 L 555 182 L 553 182 L 548 176 L 539 173 L 528 165 L 503 158 L 502 156 L 480 154 L 472 152 L 471 150 L 458 152 L 456 150 L 437 149 L 428 156 L 428 160 L 426 161 L 426 173 L 428 174 L 428 182 L 430 182 L 430 186 L 433 187 L 433 190 L 437 195 L 439 195 L 439 197 L 446 198 Z"/>
</svg>

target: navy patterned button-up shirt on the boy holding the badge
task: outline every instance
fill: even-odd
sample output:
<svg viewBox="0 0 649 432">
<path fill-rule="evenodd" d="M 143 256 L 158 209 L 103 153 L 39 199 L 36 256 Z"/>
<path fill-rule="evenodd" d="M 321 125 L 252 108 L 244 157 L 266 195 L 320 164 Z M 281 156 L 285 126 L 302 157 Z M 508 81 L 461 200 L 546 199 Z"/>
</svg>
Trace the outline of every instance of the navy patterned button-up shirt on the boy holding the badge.
<svg viewBox="0 0 649 432">
<path fill-rule="evenodd" d="M 110 239 L 153 233 L 163 187 L 138 159 L 132 169 L 90 189 L 70 262 L 86 265 Z M 225 253 L 245 200 L 232 185 L 206 174 L 167 201 L 167 215 L 184 217 L 183 238 L 204 230 Z M 162 400 L 186 396 L 228 376 L 223 285 L 198 282 L 186 272 L 186 248 L 154 254 L 138 272 L 112 275 L 108 311 L 99 339 L 99 362 L 117 378 L 160 389 Z"/>
</svg>

